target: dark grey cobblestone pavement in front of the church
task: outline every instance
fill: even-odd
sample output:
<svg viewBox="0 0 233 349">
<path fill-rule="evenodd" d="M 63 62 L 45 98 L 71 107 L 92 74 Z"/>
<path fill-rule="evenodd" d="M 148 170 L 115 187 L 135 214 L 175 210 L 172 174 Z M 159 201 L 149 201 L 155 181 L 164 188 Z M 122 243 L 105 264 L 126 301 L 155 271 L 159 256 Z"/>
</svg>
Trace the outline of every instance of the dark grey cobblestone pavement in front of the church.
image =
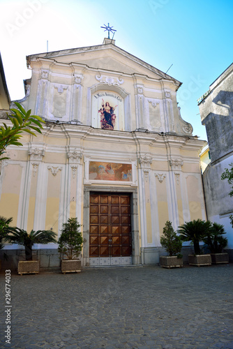
<svg viewBox="0 0 233 349">
<path fill-rule="evenodd" d="M 233 265 L 83 269 L 11 276 L 1 348 L 233 348 Z"/>
</svg>

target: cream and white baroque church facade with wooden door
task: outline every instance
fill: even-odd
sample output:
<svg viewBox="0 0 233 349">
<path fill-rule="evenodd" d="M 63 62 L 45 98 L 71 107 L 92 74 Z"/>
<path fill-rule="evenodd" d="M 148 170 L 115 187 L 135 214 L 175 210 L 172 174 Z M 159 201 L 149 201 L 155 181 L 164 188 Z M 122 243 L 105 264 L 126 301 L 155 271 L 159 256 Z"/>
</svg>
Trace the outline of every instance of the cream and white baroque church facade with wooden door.
<svg viewBox="0 0 233 349">
<path fill-rule="evenodd" d="M 23 147 L 8 147 L 1 216 L 58 236 L 62 223 L 77 217 L 83 266 L 157 263 L 167 220 L 176 230 L 206 219 L 198 157 L 204 142 L 181 118 L 181 82 L 107 38 L 33 54 L 27 65 L 32 75 L 18 102 L 45 126 L 42 135 L 24 135 Z"/>
</svg>

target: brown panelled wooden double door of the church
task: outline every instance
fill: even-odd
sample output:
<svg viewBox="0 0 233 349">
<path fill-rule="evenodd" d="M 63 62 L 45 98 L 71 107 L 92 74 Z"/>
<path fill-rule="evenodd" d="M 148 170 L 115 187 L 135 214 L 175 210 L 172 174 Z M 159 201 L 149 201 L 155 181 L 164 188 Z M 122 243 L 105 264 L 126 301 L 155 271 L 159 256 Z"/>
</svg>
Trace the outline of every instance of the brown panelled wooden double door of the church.
<svg viewBox="0 0 233 349">
<path fill-rule="evenodd" d="M 90 193 L 89 257 L 132 254 L 130 195 Z"/>
</svg>

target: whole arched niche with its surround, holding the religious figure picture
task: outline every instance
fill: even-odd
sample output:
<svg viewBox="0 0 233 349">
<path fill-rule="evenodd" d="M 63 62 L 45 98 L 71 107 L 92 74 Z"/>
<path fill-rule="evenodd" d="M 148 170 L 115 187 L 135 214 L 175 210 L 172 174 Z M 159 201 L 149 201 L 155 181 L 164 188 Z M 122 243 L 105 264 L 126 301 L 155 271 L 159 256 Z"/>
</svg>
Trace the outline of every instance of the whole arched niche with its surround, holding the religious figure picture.
<svg viewBox="0 0 233 349">
<path fill-rule="evenodd" d="M 129 94 L 121 87 L 101 83 L 89 87 L 87 103 L 88 125 L 94 128 L 108 128 L 108 124 L 110 124 L 108 129 L 131 131 L 130 98 Z M 109 105 L 106 106 L 106 103 Z M 112 122 L 109 121 L 110 114 Z"/>
</svg>

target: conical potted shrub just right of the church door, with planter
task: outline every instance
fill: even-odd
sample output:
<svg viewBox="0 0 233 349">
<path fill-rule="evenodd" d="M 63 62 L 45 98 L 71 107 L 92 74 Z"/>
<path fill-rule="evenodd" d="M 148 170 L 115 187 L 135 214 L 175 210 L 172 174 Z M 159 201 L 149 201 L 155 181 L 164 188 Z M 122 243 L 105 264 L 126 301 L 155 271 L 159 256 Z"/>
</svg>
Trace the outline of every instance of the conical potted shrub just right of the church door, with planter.
<svg viewBox="0 0 233 349">
<path fill-rule="evenodd" d="M 165 223 L 163 236 L 160 237 L 160 244 L 169 254 L 160 256 L 160 266 L 164 268 L 183 267 L 181 238 L 174 232 L 170 221 Z"/>
</svg>

